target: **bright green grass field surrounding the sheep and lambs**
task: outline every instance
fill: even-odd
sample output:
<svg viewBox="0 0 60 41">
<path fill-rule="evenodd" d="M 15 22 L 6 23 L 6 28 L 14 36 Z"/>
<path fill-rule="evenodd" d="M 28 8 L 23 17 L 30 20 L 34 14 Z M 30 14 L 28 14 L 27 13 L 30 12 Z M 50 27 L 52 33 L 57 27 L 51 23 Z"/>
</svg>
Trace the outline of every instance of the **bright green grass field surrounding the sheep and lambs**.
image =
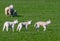
<svg viewBox="0 0 60 41">
<path fill-rule="evenodd" d="M 9 17 L 4 13 L 4 8 L 10 4 L 14 5 L 19 17 Z M 18 19 L 19 22 L 32 20 L 28 31 L 22 28 L 21 32 L 2 31 L 5 21 Z M 44 32 L 40 27 L 39 32 L 35 30 L 34 23 L 37 21 L 51 20 Z M 60 41 L 60 0 L 0 0 L 0 41 Z"/>
</svg>

